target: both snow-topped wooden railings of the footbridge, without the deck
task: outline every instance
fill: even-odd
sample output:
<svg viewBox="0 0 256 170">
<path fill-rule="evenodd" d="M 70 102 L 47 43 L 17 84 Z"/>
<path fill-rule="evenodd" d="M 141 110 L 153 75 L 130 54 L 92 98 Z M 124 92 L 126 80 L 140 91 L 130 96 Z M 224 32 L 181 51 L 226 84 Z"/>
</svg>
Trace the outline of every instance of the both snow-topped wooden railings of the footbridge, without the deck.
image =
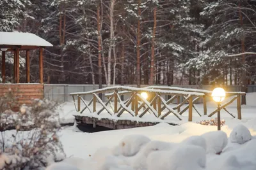
<svg viewBox="0 0 256 170">
<path fill-rule="evenodd" d="M 141 92 L 147 92 L 148 99 L 143 98 Z M 100 99 L 99 94 L 105 94 L 105 96 L 108 97 L 106 103 Z M 241 92 L 228 92 L 227 94 L 235 97 L 221 106 L 221 109 L 226 111 L 227 108 L 225 107 L 228 106 L 228 104 L 236 99 L 237 101 L 239 101 L 239 99 L 241 101 L 241 95 L 245 95 Z M 84 96 L 89 95 L 92 96 L 92 99 L 88 102 L 84 101 Z M 128 99 L 123 100 L 122 96 L 124 95 L 128 96 Z M 146 113 L 150 113 L 162 120 L 172 114 L 179 120 L 182 120 L 180 115 L 188 111 L 188 121 L 192 121 L 193 108 L 198 115 L 202 116 L 195 106 L 196 101 L 200 98 L 204 101 L 204 115 L 207 115 L 207 102 L 205 97 L 209 95 L 211 95 L 211 91 L 207 90 L 181 89 L 175 87 L 136 88 L 124 86 L 106 87 L 104 89 L 92 90 L 89 92 L 76 92 L 70 94 L 74 100 L 76 111 L 79 113 L 88 111 L 100 115 L 102 111 L 107 111 L 111 116 L 120 117 L 124 114 L 124 111 L 127 111 L 132 117 L 143 117 Z M 170 96 L 170 98 L 164 99 L 163 96 Z M 183 100 L 180 101 L 180 99 Z M 175 100 L 177 102 L 173 103 Z M 81 107 L 81 102 L 84 105 L 83 108 Z M 97 108 L 97 103 L 99 103 L 102 108 Z M 176 106 L 171 106 L 171 103 Z M 91 105 L 92 107 L 90 107 Z M 182 106 L 185 107 L 182 108 Z M 217 111 L 213 111 L 209 117 L 214 115 Z M 230 115 L 232 114 L 230 113 Z M 241 102 L 237 102 L 237 115 L 238 118 L 241 119 Z M 232 115 L 232 117 L 234 117 L 234 115 Z"/>
</svg>

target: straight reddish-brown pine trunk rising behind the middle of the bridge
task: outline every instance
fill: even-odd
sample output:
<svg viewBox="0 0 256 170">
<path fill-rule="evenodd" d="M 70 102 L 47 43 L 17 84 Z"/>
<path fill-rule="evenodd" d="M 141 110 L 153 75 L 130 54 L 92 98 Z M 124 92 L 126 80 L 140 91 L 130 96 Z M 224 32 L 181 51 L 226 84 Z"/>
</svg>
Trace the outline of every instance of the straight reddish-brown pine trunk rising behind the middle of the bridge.
<svg viewBox="0 0 256 170">
<path fill-rule="evenodd" d="M 141 17 L 141 10 L 140 10 L 141 0 L 138 0 L 138 27 L 137 27 L 137 68 L 136 68 L 136 81 L 137 87 L 140 87 L 140 17 Z"/>
</svg>

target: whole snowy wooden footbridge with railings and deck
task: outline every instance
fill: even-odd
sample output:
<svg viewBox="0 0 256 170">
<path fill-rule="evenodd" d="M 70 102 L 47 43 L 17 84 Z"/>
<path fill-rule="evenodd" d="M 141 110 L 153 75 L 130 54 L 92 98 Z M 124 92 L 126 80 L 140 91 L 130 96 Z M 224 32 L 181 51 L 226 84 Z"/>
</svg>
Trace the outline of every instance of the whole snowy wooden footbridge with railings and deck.
<svg viewBox="0 0 256 170">
<path fill-rule="evenodd" d="M 142 92 L 147 92 L 147 99 L 141 96 Z M 229 101 L 222 104 L 220 109 L 227 111 L 230 116 L 235 118 L 236 116 L 227 110 L 227 106 L 237 101 L 237 118 L 241 119 L 241 96 L 246 94 L 226 92 L 226 95 L 230 97 Z M 93 127 L 100 125 L 111 129 L 148 126 L 159 122 L 172 124 L 172 121 L 168 120 L 170 115 L 179 121 L 182 120 L 181 115 L 186 111 L 188 111 L 189 122 L 193 120 L 195 113 L 200 117 L 202 115 L 212 117 L 218 112 L 217 106 L 216 110 L 211 113 L 207 112 L 207 101 L 211 97 L 209 90 L 157 86 L 146 88 L 115 86 L 89 92 L 71 93 L 70 96 L 74 99 L 77 124 L 93 124 Z M 84 96 L 92 96 L 92 99 L 84 101 Z M 99 96 L 106 97 L 106 102 L 103 102 Z M 203 113 L 200 113 L 195 106 L 199 100 L 204 106 Z M 105 114 L 103 115 L 103 113 Z M 143 119 L 146 115 L 151 115 L 150 121 Z"/>
</svg>

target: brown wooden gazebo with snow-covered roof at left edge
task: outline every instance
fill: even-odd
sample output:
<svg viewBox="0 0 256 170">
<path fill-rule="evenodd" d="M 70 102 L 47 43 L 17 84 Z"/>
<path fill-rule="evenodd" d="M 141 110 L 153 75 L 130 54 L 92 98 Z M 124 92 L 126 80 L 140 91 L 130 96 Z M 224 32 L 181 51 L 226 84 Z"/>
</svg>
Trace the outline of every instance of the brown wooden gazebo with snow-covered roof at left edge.
<svg viewBox="0 0 256 170">
<path fill-rule="evenodd" d="M 52 46 L 35 34 L 23 32 L 0 32 L 0 50 L 2 52 L 2 82 L 0 84 L 0 96 L 12 90 L 14 96 L 18 97 L 20 104 L 29 104 L 31 99 L 44 97 L 44 73 L 43 73 L 43 49 Z M 30 82 L 30 50 L 39 50 L 39 83 Z M 26 82 L 20 83 L 20 51 L 26 51 Z M 13 53 L 13 82 L 6 83 L 6 53 Z"/>
</svg>

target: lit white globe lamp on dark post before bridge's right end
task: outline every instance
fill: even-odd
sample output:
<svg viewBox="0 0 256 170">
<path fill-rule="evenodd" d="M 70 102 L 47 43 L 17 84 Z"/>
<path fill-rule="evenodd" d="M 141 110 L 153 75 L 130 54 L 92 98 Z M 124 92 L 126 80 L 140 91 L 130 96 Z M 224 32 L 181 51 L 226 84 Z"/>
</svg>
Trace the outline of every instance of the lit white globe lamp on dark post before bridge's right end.
<svg viewBox="0 0 256 170">
<path fill-rule="evenodd" d="M 218 104 L 218 131 L 220 131 L 220 104 L 225 97 L 226 92 L 220 87 L 217 87 L 212 91 L 212 99 Z"/>
</svg>

